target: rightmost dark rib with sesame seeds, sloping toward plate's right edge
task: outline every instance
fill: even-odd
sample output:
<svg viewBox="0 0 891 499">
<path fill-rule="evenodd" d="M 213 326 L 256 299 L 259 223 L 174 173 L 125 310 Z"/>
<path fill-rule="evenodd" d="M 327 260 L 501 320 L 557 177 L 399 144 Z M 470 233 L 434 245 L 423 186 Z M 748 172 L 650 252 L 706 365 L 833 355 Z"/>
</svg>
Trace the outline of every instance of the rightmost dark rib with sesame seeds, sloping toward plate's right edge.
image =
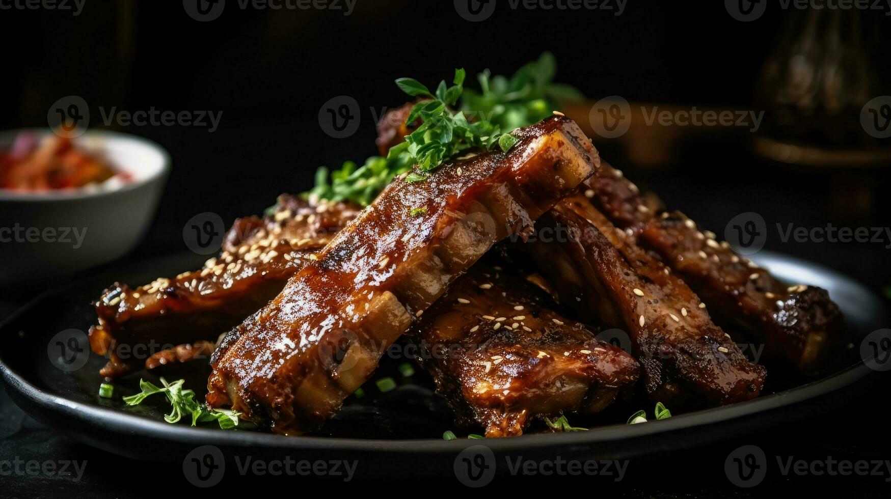
<svg viewBox="0 0 891 499">
<path fill-rule="evenodd" d="M 814 372 L 838 340 L 843 318 L 822 288 L 789 286 L 680 212 L 658 213 L 622 173 L 603 164 L 584 186 L 593 204 L 683 277 L 727 327 L 739 326 L 801 372 Z"/>
</svg>

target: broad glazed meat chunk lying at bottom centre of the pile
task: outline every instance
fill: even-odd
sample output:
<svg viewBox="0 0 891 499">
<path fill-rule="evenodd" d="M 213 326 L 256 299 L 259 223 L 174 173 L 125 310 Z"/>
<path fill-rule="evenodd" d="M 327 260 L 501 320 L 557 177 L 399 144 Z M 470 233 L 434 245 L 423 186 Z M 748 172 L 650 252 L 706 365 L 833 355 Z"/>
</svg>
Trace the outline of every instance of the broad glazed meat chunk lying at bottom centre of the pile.
<svg viewBox="0 0 891 499">
<path fill-rule="evenodd" d="M 634 357 L 550 302 L 534 284 L 477 264 L 409 333 L 437 389 L 486 437 L 520 435 L 536 416 L 599 411 L 637 380 Z"/>
</svg>

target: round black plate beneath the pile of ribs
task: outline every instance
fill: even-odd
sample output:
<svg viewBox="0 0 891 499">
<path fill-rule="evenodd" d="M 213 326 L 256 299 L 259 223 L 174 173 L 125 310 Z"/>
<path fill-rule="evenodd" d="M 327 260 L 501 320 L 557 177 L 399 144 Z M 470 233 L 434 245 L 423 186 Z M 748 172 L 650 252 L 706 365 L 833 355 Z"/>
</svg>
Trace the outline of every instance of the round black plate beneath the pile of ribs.
<svg viewBox="0 0 891 499">
<path fill-rule="evenodd" d="M 90 355 L 86 365 L 73 371 L 63 371 L 53 364 L 52 357 L 58 359 L 53 338 L 60 331 L 87 330 L 94 322 L 89 301 L 105 285 L 121 277 L 128 282 L 147 282 L 158 275 L 200 266 L 200 258 L 194 255 L 112 268 L 35 299 L 0 324 L 0 374 L 13 400 L 37 420 L 89 445 L 143 460 L 182 460 L 196 446 L 210 444 L 226 454 L 363 459 L 358 473 L 381 477 L 404 473 L 404 465 L 411 466 L 415 474 L 451 474 L 455 455 L 481 442 L 495 454 L 523 453 L 527 457 L 560 454 L 614 459 L 655 455 L 798 418 L 813 418 L 815 412 L 844 403 L 851 390 L 869 389 L 870 384 L 862 381 L 874 371 L 862 362 L 860 345 L 871 331 L 887 327 L 882 301 L 861 284 L 830 269 L 766 251 L 756 257 L 759 264 L 783 280 L 830 290 L 830 296 L 845 313 L 850 334 L 846 347 L 839 350 L 838 367 L 817 380 L 800 380 L 769 365 L 773 383 L 768 387 L 773 391 L 769 395 L 646 424 L 624 424 L 628 414 L 644 407 L 638 402 L 619 405 L 582 421 L 596 427 L 591 431 L 445 441 L 441 438 L 443 430 L 454 429 L 451 415 L 442 399 L 430 390 L 426 375 L 417 372 L 407 379 L 402 377 L 401 386 L 386 394 L 377 393 L 372 383 L 366 397 L 350 397 L 339 416 L 318 434 L 289 438 L 249 429 L 168 424 L 162 421 L 165 407 L 159 396 L 154 403 L 150 398 L 136 407 L 120 401 L 122 395 L 136 391 L 140 376 L 157 380 L 154 374 L 140 372 L 116 381 L 115 396 L 105 399 L 97 395 L 102 382 L 98 369 L 104 359 Z M 384 374 L 401 377 L 396 364 L 383 364 Z M 168 380 L 185 377 L 186 386 L 200 392 L 207 372 L 196 372 L 194 367 L 178 369 L 164 374 Z M 789 388 L 790 384 L 794 386 Z M 651 413 L 651 407 L 647 408 Z M 459 435 L 470 431 L 473 429 L 456 429 Z"/>
</svg>

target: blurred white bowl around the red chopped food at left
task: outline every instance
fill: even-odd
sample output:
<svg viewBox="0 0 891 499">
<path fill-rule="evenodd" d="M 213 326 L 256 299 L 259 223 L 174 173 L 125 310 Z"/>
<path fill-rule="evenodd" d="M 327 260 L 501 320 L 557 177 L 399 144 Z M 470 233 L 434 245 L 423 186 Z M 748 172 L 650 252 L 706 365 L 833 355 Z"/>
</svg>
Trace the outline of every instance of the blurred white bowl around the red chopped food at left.
<svg viewBox="0 0 891 499">
<path fill-rule="evenodd" d="M 0 132 L 0 151 L 16 135 Z M 48 130 L 29 130 L 42 138 Z M 98 151 L 132 180 L 109 188 L 50 192 L 0 189 L 0 281 L 70 274 L 122 257 L 142 239 L 158 208 L 170 158 L 135 135 L 88 131 L 76 147 Z"/>
</svg>

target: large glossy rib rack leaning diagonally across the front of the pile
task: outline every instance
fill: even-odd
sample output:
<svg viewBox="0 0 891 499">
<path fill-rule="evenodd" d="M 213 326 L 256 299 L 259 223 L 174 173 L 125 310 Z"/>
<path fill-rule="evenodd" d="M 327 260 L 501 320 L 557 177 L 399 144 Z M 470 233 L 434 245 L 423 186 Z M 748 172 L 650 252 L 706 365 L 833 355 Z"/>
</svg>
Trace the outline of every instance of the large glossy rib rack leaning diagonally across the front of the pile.
<svg viewBox="0 0 891 499">
<path fill-rule="evenodd" d="M 315 429 L 368 379 L 384 350 L 496 241 L 593 175 L 576 123 L 515 130 L 510 151 L 397 178 L 211 357 L 208 405 L 231 405 L 275 432 Z"/>
</svg>

